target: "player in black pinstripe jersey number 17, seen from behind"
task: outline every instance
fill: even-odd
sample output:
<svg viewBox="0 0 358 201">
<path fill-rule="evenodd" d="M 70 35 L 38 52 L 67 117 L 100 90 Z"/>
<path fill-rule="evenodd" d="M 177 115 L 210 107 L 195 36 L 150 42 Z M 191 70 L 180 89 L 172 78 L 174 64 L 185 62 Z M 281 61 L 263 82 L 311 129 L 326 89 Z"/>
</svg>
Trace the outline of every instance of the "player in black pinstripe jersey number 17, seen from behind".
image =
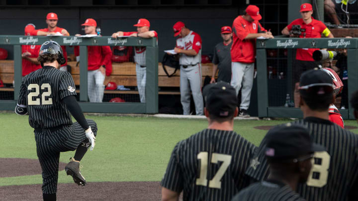
<svg viewBox="0 0 358 201">
<path fill-rule="evenodd" d="M 162 201 L 230 201 L 248 185 L 245 170 L 256 146 L 233 131 L 237 116 L 235 89 L 226 82 L 203 91 L 207 129 L 180 141 L 161 182 Z"/>
</svg>

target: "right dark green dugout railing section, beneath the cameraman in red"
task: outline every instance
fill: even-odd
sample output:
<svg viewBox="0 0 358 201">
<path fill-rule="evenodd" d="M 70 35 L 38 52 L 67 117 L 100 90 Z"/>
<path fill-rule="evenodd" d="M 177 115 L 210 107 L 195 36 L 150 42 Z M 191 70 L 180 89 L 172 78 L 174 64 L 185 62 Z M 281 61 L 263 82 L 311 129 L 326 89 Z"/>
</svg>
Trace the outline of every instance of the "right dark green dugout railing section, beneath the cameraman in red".
<svg viewBox="0 0 358 201">
<path fill-rule="evenodd" d="M 297 48 L 327 48 L 347 49 L 348 65 L 348 99 L 358 89 L 358 39 L 356 38 L 274 38 L 257 40 L 256 61 L 257 61 L 257 85 L 258 85 L 258 116 L 259 117 L 284 117 L 302 118 L 299 108 L 270 107 L 269 86 L 268 86 L 268 65 L 267 49 L 288 49 L 287 54 L 287 88 L 292 86 L 292 63 L 295 55 L 292 49 Z M 347 86 L 345 86 L 347 87 Z M 293 93 L 291 92 L 291 97 Z M 252 107 L 252 106 L 251 106 Z M 353 108 L 349 107 L 340 110 L 344 119 L 354 119 Z"/>
</svg>

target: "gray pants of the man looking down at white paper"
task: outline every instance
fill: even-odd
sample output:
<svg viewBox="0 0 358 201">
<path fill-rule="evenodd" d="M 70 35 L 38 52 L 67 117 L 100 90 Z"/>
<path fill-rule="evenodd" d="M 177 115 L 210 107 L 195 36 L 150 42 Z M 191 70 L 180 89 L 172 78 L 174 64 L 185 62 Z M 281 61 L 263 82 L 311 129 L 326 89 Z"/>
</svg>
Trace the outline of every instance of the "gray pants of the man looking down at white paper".
<svg viewBox="0 0 358 201">
<path fill-rule="evenodd" d="M 183 115 L 190 114 L 190 90 L 194 99 L 196 115 L 203 115 L 204 102 L 201 94 L 201 65 L 180 66 L 180 101 Z"/>
</svg>

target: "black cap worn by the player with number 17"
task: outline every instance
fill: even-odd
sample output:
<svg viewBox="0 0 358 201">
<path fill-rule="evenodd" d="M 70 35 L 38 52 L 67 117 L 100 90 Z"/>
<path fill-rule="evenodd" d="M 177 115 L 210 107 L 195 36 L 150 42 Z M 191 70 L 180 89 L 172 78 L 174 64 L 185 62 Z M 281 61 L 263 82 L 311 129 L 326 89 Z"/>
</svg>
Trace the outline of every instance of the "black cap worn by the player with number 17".
<svg viewBox="0 0 358 201">
<path fill-rule="evenodd" d="M 208 84 L 203 90 L 206 110 L 217 117 L 234 114 L 237 107 L 237 95 L 234 87 L 227 82 Z"/>
</svg>

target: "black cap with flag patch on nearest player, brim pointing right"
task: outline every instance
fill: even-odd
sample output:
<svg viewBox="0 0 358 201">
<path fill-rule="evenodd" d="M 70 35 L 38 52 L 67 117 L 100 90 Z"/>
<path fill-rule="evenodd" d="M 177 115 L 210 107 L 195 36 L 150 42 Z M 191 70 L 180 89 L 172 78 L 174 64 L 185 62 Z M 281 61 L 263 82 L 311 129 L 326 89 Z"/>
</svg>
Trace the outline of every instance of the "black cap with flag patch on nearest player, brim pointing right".
<svg viewBox="0 0 358 201">
<path fill-rule="evenodd" d="M 294 159 L 326 150 L 323 146 L 313 143 L 307 128 L 297 124 L 276 126 L 269 130 L 266 138 L 265 155 L 270 159 Z"/>
</svg>

